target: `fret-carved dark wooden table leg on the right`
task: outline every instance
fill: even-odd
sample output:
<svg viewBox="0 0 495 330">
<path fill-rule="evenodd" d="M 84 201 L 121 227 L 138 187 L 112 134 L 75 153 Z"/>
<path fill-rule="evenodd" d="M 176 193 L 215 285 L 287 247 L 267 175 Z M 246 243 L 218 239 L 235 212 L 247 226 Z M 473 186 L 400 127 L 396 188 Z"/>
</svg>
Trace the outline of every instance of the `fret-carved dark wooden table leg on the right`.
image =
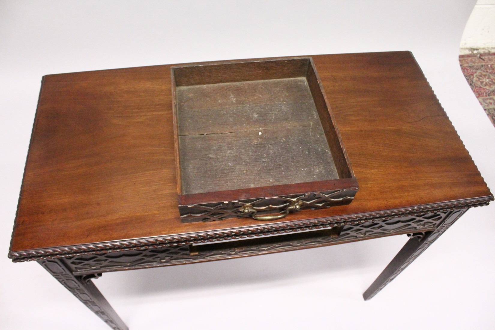
<svg viewBox="0 0 495 330">
<path fill-rule="evenodd" d="M 364 300 L 373 298 L 388 283 L 392 282 L 411 262 L 431 245 L 448 227 L 450 227 L 467 209 L 454 210 L 446 214 L 444 221 L 436 230 L 422 235 L 411 235 L 407 243 L 400 249 L 390 264 L 363 293 Z"/>
</svg>

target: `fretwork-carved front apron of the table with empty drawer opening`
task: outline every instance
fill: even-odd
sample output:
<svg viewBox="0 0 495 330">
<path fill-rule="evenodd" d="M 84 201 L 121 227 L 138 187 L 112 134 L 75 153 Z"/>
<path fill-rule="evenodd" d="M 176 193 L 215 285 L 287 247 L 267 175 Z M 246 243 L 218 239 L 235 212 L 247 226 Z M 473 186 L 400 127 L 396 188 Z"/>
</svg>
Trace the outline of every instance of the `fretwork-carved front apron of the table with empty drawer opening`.
<svg viewBox="0 0 495 330">
<path fill-rule="evenodd" d="M 64 259 L 75 275 L 87 275 L 125 269 L 138 269 L 199 261 L 220 260 L 242 256 L 291 251 L 356 241 L 365 238 L 433 231 L 449 215 L 461 210 L 436 212 L 369 222 L 319 225 L 318 230 L 285 235 L 230 240 L 216 243 L 164 246 L 144 250 L 127 250 L 100 255 Z M 266 233 L 265 233 L 266 235 Z"/>
</svg>

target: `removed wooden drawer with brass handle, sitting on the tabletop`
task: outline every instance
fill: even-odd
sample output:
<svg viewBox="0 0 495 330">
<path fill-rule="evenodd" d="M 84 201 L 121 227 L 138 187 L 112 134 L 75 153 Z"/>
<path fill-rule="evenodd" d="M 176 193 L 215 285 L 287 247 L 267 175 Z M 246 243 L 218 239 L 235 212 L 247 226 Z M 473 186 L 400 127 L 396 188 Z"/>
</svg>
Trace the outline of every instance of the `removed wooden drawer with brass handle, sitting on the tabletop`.
<svg viewBox="0 0 495 330">
<path fill-rule="evenodd" d="M 357 181 L 310 57 L 171 70 L 182 222 L 352 201 Z"/>
</svg>

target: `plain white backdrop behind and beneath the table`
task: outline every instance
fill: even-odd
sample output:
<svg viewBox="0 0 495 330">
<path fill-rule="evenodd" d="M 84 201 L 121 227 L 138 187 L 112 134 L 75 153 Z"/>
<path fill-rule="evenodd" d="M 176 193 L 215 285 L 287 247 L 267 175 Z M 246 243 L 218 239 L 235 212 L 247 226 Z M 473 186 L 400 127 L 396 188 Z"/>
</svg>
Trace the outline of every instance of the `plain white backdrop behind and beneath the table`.
<svg viewBox="0 0 495 330">
<path fill-rule="evenodd" d="M 457 61 L 474 4 L 0 1 L 0 328 L 109 329 L 36 262 L 6 257 L 43 75 L 411 50 L 495 189 L 495 128 Z M 494 211 L 495 203 L 469 210 L 368 302 L 361 293 L 406 237 L 107 273 L 95 283 L 131 330 L 495 329 Z"/>
</svg>

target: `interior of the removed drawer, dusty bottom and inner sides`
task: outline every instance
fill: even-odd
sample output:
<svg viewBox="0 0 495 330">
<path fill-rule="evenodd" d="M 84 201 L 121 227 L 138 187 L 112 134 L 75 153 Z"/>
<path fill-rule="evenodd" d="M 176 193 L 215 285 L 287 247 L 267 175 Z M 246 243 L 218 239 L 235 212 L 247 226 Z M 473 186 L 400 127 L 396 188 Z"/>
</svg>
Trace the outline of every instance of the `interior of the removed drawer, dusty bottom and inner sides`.
<svg viewBox="0 0 495 330">
<path fill-rule="evenodd" d="M 173 71 L 180 193 L 351 176 L 309 58 Z"/>
</svg>

